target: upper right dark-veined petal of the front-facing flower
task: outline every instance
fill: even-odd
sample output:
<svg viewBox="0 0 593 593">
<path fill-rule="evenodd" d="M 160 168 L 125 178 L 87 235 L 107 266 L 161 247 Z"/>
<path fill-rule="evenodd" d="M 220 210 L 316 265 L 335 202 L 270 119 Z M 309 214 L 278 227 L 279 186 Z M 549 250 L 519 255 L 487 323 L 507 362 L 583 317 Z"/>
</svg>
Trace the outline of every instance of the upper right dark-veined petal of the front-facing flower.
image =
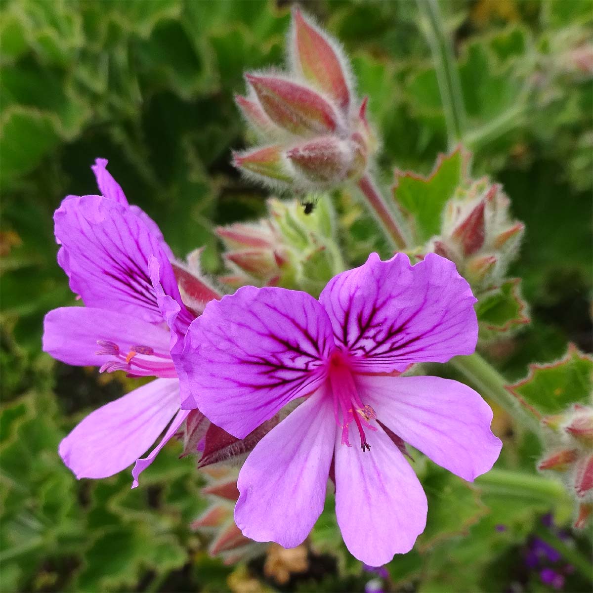
<svg viewBox="0 0 593 593">
<path fill-rule="evenodd" d="M 319 300 L 359 371 L 403 371 L 476 349 L 470 285 L 434 253 L 415 266 L 403 253 L 387 262 L 371 253 L 363 266 L 331 279 Z"/>
</svg>

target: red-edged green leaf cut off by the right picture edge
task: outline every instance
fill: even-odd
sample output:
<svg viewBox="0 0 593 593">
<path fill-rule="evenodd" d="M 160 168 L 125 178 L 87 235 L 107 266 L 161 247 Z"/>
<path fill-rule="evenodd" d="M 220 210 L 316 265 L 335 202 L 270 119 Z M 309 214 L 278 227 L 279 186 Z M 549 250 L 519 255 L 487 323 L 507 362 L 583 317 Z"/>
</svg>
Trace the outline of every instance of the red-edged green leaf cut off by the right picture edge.
<svg viewBox="0 0 593 593">
<path fill-rule="evenodd" d="M 538 416 L 564 412 L 576 403 L 591 403 L 593 358 L 571 344 L 559 361 L 531 364 L 527 377 L 509 390 Z"/>
</svg>

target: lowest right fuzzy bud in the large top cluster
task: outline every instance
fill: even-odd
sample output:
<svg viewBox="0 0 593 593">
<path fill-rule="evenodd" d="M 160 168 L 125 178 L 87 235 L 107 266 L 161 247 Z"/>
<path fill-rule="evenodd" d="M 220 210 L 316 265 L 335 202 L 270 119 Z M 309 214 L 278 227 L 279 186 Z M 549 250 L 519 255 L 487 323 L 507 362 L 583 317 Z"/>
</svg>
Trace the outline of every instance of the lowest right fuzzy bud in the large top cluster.
<svg viewBox="0 0 593 593">
<path fill-rule="evenodd" d="M 313 183 L 339 183 L 352 162 L 352 149 L 336 136 L 322 136 L 299 144 L 286 157 L 299 174 Z"/>
</svg>

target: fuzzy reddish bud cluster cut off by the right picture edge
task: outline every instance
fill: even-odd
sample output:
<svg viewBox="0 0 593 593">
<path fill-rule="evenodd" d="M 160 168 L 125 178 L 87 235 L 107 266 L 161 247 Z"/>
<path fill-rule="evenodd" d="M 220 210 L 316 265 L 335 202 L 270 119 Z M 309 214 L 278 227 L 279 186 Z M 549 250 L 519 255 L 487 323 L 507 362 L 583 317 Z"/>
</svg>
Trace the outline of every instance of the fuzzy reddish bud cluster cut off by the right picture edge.
<svg viewBox="0 0 593 593">
<path fill-rule="evenodd" d="M 584 528 L 593 512 L 593 407 L 575 404 L 543 423 L 553 437 L 538 468 L 563 476 L 578 504 L 575 527 Z"/>
</svg>

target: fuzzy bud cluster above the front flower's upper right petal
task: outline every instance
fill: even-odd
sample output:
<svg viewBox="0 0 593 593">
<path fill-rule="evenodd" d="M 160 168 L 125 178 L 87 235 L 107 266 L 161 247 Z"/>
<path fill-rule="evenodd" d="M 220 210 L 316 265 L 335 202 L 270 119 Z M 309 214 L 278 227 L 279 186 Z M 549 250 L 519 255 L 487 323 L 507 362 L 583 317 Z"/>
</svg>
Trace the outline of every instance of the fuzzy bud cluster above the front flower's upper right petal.
<svg viewBox="0 0 593 593">
<path fill-rule="evenodd" d="M 525 230 L 513 221 L 511 201 L 499 184 L 482 179 L 458 190 L 443 215 L 442 232 L 429 250 L 447 257 L 474 288 L 486 288 L 505 276 Z"/>
</svg>

